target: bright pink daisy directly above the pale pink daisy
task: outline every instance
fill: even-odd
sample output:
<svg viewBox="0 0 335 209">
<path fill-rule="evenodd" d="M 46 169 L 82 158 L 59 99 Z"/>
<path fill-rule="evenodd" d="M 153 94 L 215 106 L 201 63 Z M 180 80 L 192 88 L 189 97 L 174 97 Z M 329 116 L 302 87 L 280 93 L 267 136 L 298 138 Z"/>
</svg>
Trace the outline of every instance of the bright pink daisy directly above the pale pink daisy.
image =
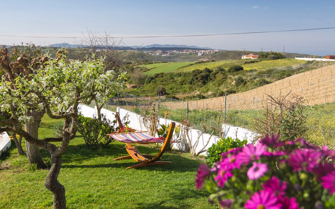
<svg viewBox="0 0 335 209">
<path fill-rule="evenodd" d="M 258 160 L 266 152 L 265 147 L 266 145 L 262 143 L 256 146 L 248 144 L 237 154 L 236 159 L 239 164 L 247 165 L 250 161 Z"/>
</svg>

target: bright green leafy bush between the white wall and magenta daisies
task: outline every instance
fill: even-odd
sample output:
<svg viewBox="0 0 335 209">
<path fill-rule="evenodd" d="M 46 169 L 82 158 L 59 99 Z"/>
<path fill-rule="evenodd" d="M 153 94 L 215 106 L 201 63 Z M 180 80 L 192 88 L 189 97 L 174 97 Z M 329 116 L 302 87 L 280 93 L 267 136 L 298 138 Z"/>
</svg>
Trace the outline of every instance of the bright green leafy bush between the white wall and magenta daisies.
<svg viewBox="0 0 335 209">
<path fill-rule="evenodd" d="M 213 144 L 211 147 L 208 148 L 206 156 L 207 165 L 214 167 L 215 163 L 220 161 L 222 152 L 226 152 L 231 148 L 244 147 L 247 142 L 247 139 L 241 141 L 238 138 L 221 138 L 219 141 L 216 142 L 216 144 Z"/>
</svg>

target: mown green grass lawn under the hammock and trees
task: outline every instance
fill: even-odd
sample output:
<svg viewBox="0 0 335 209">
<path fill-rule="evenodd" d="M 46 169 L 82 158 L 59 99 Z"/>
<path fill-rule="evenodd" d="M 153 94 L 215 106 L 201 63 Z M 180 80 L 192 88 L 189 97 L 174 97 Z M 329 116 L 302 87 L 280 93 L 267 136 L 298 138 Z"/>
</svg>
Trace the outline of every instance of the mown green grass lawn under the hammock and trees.
<svg viewBox="0 0 335 209">
<path fill-rule="evenodd" d="M 56 121 L 45 116 L 39 137 L 53 136 Z M 121 142 L 115 145 L 124 146 Z M 58 177 L 66 189 L 67 208 L 215 208 L 207 202 L 207 191 L 195 189 L 201 159 L 175 151 L 162 156 L 166 159 L 171 155 L 173 164 L 126 170 L 136 162 L 113 161 L 126 155 L 125 149 L 115 145 L 89 151 L 81 135 L 70 141 Z M 138 149 L 146 154 L 158 152 L 147 146 Z M 49 156 L 44 150 L 41 153 L 43 158 Z M 29 173 L 26 157 L 17 154 L 13 141 L 0 160 L 0 208 L 52 208 L 53 195 L 44 187 L 48 170 Z"/>
</svg>

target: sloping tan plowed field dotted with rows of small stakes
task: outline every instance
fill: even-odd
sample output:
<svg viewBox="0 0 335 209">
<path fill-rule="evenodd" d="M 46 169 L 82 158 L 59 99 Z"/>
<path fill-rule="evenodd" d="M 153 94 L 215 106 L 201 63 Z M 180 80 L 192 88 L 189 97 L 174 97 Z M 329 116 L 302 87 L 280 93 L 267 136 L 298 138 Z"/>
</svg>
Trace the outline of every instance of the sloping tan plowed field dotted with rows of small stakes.
<svg viewBox="0 0 335 209">
<path fill-rule="evenodd" d="M 267 100 L 267 94 L 303 96 L 309 105 L 335 101 L 335 65 L 300 73 L 274 83 L 227 96 L 227 109 L 259 109 Z M 186 102 L 161 103 L 172 109 L 186 108 Z M 220 109 L 224 107 L 224 96 L 198 101 L 189 101 L 189 109 Z"/>
</svg>

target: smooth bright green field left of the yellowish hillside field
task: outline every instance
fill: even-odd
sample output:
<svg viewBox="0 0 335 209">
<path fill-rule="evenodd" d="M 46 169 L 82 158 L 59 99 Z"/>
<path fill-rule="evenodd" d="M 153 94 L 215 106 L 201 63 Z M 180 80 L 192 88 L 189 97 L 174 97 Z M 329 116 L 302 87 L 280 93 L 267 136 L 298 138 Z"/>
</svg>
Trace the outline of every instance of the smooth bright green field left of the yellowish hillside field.
<svg viewBox="0 0 335 209">
<path fill-rule="evenodd" d="M 185 63 L 153 63 L 149 65 L 144 65 L 143 67 L 147 69 L 151 69 L 145 74 L 153 75 L 155 73 L 168 73 L 171 71 L 175 71 L 181 67 L 187 66 L 189 64 L 193 64 L 194 62 L 185 62 Z"/>
</svg>

